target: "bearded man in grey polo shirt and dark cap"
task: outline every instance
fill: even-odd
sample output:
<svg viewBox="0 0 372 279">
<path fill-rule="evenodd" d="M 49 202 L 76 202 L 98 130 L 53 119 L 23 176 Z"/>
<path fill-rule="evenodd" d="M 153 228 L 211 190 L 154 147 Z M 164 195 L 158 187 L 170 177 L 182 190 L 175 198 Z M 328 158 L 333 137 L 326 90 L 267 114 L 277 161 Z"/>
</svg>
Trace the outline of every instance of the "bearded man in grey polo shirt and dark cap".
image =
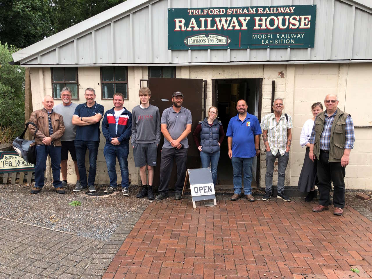
<svg viewBox="0 0 372 279">
<path fill-rule="evenodd" d="M 168 196 L 168 183 L 172 173 L 173 159 L 176 159 L 177 181 L 174 185 L 175 199 L 181 199 L 183 183 L 186 175 L 186 159 L 189 141 L 187 135 L 191 132 L 191 112 L 183 108 L 183 94 L 179 91 L 172 95 L 173 106 L 163 111 L 161 115 L 161 132 L 164 135 L 164 145 L 161 150 L 159 195 L 161 200 Z"/>
</svg>

